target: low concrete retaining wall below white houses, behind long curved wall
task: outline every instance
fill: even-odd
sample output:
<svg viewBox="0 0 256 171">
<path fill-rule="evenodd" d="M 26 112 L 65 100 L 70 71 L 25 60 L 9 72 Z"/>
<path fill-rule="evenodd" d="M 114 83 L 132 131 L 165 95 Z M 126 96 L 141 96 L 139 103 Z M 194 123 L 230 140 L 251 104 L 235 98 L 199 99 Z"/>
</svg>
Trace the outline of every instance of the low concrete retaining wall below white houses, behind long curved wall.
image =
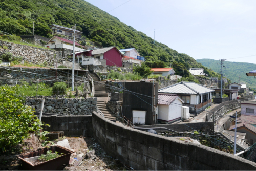
<svg viewBox="0 0 256 171">
<path fill-rule="evenodd" d="M 204 132 L 212 133 L 214 132 L 214 122 L 197 122 L 197 123 L 186 123 L 186 124 L 163 124 L 163 125 L 143 125 L 136 126 L 142 128 L 150 127 L 166 127 L 167 129 L 184 132 L 190 130 L 201 130 Z M 166 132 L 166 130 L 156 130 L 157 132 Z"/>
</svg>

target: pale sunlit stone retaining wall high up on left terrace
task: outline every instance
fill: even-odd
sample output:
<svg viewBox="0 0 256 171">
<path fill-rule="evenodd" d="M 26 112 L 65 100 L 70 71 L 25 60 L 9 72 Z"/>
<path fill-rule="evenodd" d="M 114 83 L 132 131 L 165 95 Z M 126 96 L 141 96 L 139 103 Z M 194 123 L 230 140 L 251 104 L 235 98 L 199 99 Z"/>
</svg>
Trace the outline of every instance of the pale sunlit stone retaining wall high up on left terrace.
<svg viewBox="0 0 256 171">
<path fill-rule="evenodd" d="M 4 46 L 8 49 L 3 49 Z M 0 40 L 0 56 L 6 52 L 12 53 L 14 57 L 22 57 L 24 60 L 37 64 L 45 63 L 48 66 L 53 66 L 54 63 L 63 60 L 61 52 L 59 51 L 42 49 L 28 45 L 19 45 L 14 44 L 13 42 Z M 24 60 L 22 62 L 24 62 Z"/>
</svg>

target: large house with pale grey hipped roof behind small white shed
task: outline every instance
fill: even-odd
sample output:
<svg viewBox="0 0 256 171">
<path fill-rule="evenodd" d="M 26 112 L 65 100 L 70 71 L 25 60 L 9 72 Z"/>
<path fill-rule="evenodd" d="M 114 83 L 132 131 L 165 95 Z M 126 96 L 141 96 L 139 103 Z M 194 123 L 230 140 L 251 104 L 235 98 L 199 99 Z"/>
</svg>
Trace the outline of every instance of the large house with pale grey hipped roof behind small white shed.
<svg viewBox="0 0 256 171">
<path fill-rule="evenodd" d="M 211 105 L 213 89 L 202 86 L 195 82 L 179 82 L 158 90 L 161 94 L 177 94 L 190 111 L 201 112 Z"/>
</svg>

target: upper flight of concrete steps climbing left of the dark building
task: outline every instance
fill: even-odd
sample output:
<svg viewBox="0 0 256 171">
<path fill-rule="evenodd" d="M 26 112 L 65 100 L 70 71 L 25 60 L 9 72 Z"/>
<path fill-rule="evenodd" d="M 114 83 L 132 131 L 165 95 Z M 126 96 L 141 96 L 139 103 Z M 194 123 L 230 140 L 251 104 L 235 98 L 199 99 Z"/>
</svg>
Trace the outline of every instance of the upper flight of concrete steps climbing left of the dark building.
<svg viewBox="0 0 256 171">
<path fill-rule="evenodd" d="M 101 82 L 94 73 L 90 73 L 89 75 L 93 78 L 94 97 L 108 97 L 108 93 L 106 93 L 105 82 Z"/>
</svg>

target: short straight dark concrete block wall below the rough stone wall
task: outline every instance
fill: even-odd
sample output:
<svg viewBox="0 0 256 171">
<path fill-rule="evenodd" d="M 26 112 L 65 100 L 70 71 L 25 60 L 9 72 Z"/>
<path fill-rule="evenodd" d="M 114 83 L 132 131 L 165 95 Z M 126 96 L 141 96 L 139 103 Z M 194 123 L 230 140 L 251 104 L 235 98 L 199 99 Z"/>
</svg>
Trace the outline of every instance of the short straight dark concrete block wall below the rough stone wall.
<svg viewBox="0 0 256 171">
<path fill-rule="evenodd" d="M 93 136 L 92 116 L 42 116 L 42 122 L 51 125 L 47 131 L 64 131 L 65 136 Z"/>
</svg>

